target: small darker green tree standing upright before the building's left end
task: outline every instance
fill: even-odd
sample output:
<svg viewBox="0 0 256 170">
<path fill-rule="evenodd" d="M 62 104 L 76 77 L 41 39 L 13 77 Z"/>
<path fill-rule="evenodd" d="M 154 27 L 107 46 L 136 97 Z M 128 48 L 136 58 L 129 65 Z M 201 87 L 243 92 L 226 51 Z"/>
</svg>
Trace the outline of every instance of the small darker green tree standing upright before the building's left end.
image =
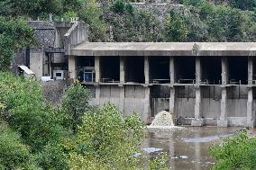
<svg viewBox="0 0 256 170">
<path fill-rule="evenodd" d="M 90 109 L 89 100 L 89 90 L 80 84 L 69 86 L 62 98 L 61 107 L 67 115 L 66 126 L 74 132 L 80 125 L 82 116 Z"/>
</svg>

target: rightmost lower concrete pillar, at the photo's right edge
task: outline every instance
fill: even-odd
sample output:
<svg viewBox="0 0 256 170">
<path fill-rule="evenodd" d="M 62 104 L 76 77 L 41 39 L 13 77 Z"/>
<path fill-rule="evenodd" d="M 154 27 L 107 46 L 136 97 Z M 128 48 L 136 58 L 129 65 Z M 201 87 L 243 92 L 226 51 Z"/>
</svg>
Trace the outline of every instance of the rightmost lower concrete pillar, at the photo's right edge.
<svg viewBox="0 0 256 170">
<path fill-rule="evenodd" d="M 253 95 L 252 88 L 248 88 L 248 100 L 247 100 L 247 126 L 254 128 L 255 115 L 253 111 Z"/>
</svg>

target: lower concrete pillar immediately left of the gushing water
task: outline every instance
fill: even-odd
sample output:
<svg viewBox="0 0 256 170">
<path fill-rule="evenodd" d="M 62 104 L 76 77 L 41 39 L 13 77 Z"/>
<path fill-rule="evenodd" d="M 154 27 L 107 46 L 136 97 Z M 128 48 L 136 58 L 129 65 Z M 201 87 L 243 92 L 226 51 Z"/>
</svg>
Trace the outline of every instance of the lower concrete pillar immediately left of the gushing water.
<svg viewBox="0 0 256 170">
<path fill-rule="evenodd" d="M 151 117 L 151 88 L 144 87 L 145 97 L 144 97 L 144 109 L 142 115 L 142 121 L 147 121 Z"/>
</svg>

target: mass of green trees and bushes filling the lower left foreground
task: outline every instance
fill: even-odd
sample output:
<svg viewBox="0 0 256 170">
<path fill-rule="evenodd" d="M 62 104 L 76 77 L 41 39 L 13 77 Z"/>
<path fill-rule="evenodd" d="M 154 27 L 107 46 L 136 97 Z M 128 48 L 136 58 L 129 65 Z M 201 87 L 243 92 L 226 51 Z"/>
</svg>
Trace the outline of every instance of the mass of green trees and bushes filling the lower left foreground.
<svg viewBox="0 0 256 170">
<path fill-rule="evenodd" d="M 166 169 L 159 157 L 143 166 L 144 125 L 114 105 L 91 107 L 82 85 L 71 85 L 60 106 L 45 103 L 41 86 L 0 72 L 1 169 Z M 74 130 L 75 129 L 75 130 Z"/>
</svg>

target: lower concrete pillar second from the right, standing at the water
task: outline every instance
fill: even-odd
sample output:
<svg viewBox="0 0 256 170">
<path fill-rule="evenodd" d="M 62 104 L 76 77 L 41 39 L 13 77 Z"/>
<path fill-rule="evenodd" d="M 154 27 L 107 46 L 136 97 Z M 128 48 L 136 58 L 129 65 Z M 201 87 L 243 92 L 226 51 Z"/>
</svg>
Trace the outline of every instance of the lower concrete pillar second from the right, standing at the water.
<svg viewBox="0 0 256 170">
<path fill-rule="evenodd" d="M 222 100 L 221 100 L 221 116 L 220 119 L 217 121 L 218 127 L 227 127 L 227 96 L 226 96 L 226 87 L 222 88 Z"/>
</svg>

